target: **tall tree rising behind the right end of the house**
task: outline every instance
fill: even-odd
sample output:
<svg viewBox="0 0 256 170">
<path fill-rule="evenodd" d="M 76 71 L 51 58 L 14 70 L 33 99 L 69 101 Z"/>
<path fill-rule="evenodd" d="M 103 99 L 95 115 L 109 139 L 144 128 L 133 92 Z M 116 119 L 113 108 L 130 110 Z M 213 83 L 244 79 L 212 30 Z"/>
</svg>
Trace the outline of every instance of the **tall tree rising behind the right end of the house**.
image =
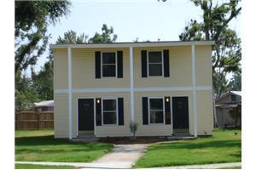
<svg viewBox="0 0 256 170">
<path fill-rule="evenodd" d="M 239 0 L 214 3 L 212 0 L 191 0 L 203 12 L 203 20 L 190 20 L 180 40 L 214 41 L 212 72 L 214 93 L 219 96 L 228 89 L 226 75 L 239 71 L 241 65 L 241 39 L 229 28 L 230 21 L 241 13 Z M 222 86 L 222 87 L 219 87 Z"/>
</svg>

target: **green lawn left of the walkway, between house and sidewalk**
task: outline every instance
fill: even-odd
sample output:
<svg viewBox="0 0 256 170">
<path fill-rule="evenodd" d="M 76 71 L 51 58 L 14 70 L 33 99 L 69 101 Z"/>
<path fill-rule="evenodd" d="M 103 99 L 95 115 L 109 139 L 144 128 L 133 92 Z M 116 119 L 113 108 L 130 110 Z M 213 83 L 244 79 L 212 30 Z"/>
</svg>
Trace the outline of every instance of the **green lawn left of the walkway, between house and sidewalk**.
<svg viewBox="0 0 256 170">
<path fill-rule="evenodd" d="M 15 132 L 15 161 L 89 162 L 112 149 L 113 144 L 85 144 L 54 139 L 52 130 Z"/>
</svg>

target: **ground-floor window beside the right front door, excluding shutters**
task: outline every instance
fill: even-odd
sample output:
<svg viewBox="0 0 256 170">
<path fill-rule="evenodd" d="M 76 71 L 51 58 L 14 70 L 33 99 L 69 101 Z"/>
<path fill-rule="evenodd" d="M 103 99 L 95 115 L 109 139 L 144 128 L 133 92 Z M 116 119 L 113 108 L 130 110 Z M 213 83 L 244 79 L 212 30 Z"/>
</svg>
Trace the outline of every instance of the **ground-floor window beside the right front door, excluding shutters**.
<svg viewBox="0 0 256 170">
<path fill-rule="evenodd" d="M 164 101 L 149 99 L 150 123 L 164 123 Z"/>
</svg>

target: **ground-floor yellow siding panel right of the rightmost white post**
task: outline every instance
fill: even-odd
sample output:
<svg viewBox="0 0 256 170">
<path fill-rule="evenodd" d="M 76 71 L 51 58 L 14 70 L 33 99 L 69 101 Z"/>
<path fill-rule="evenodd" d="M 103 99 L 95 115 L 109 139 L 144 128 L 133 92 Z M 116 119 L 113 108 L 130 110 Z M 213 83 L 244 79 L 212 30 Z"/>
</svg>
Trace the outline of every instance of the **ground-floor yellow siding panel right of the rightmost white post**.
<svg viewBox="0 0 256 170">
<path fill-rule="evenodd" d="M 197 92 L 198 135 L 212 134 L 212 91 Z"/>
</svg>

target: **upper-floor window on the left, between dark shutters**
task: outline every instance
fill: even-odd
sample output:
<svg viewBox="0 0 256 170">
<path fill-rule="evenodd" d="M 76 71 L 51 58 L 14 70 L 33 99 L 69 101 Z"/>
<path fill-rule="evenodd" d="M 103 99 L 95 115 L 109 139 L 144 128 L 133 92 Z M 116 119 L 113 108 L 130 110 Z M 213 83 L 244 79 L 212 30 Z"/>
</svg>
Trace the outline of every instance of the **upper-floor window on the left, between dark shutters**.
<svg viewBox="0 0 256 170">
<path fill-rule="evenodd" d="M 115 53 L 102 53 L 102 77 L 116 77 Z"/>
</svg>

